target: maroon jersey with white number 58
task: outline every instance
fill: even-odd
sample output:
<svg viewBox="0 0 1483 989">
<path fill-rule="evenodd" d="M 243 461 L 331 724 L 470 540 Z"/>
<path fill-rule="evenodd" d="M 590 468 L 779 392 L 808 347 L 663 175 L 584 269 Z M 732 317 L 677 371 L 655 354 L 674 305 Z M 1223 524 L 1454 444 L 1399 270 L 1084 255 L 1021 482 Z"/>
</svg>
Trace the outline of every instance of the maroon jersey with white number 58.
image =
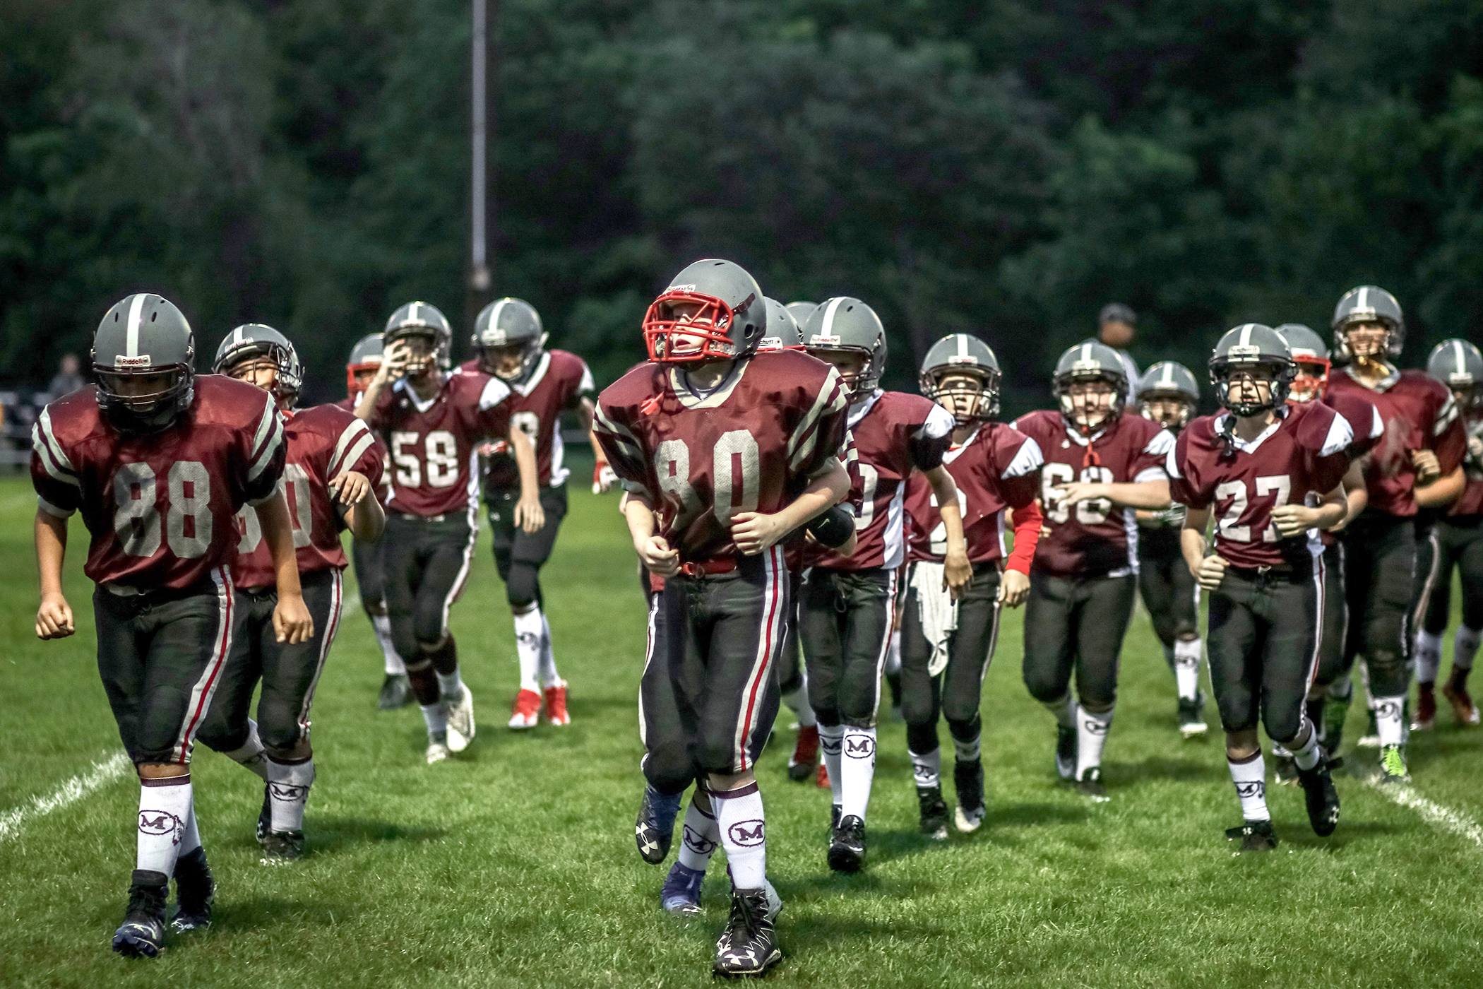
<svg viewBox="0 0 1483 989">
<path fill-rule="evenodd" d="M 371 429 L 386 436 L 392 497 L 386 507 L 423 517 L 467 512 L 478 504 L 479 443 L 510 431 L 510 388 L 486 374 L 451 374 L 423 402 L 399 380 L 381 388 Z"/>
</svg>

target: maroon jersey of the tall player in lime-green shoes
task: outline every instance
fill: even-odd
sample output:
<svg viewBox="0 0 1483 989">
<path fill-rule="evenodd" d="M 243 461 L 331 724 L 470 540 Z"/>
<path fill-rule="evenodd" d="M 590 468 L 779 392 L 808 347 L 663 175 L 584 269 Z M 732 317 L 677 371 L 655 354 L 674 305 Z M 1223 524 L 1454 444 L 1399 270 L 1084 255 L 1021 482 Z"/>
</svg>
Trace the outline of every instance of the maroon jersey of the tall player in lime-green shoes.
<svg viewBox="0 0 1483 989">
<path fill-rule="evenodd" d="M 1452 391 L 1422 371 L 1393 372 L 1378 388 L 1369 388 L 1345 368 L 1329 378 L 1327 397 L 1339 396 L 1364 399 L 1385 423 L 1385 434 L 1376 440 L 1364 466 L 1370 510 L 1403 517 L 1416 515 L 1412 451 L 1434 451 L 1441 473 L 1450 474 L 1467 449 L 1467 430 Z"/>
</svg>

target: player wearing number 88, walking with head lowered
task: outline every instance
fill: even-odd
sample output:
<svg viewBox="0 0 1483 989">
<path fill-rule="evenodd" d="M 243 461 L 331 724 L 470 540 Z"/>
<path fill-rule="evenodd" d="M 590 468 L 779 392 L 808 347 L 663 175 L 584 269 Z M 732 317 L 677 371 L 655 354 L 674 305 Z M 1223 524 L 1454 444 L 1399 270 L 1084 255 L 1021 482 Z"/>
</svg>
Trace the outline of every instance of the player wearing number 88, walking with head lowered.
<svg viewBox="0 0 1483 989">
<path fill-rule="evenodd" d="M 274 638 L 308 641 L 294 531 L 277 483 L 283 424 L 270 396 L 217 375 L 196 377 L 181 311 L 131 295 L 93 335 L 96 386 L 42 409 L 31 431 L 39 501 L 36 635 L 77 629 L 62 595 L 67 519 L 82 512 L 92 541 L 83 571 L 98 589 L 98 672 L 139 777 L 135 869 L 113 949 L 154 958 L 165 904 L 184 933 L 211 924 L 215 894 L 196 826 L 190 759 L 231 651 L 236 606 L 228 563 L 236 513 L 255 506 L 273 559 Z"/>
</svg>

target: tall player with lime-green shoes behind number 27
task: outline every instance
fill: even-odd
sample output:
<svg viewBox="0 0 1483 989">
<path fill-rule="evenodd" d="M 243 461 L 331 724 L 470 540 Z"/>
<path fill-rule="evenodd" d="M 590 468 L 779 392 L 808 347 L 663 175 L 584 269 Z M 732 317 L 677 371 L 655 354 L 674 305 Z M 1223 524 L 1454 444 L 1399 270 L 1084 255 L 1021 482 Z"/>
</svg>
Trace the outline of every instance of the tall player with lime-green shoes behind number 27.
<svg viewBox="0 0 1483 989">
<path fill-rule="evenodd" d="M 1379 409 L 1385 434 L 1366 454 L 1369 503 L 1344 529 L 1350 627 L 1345 672 L 1364 657 L 1373 703 L 1381 774 L 1385 783 L 1410 778 L 1403 719 L 1416 606 L 1416 515 L 1446 504 L 1461 485 L 1456 474 L 1467 434 L 1452 391 L 1424 371 L 1400 371 L 1406 323 L 1385 289 L 1350 289 L 1333 310 L 1333 353 L 1344 368 L 1329 377 L 1330 396 L 1357 396 Z M 1335 746 L 1336 747 L 1336 746 Z"/>
</svg>

